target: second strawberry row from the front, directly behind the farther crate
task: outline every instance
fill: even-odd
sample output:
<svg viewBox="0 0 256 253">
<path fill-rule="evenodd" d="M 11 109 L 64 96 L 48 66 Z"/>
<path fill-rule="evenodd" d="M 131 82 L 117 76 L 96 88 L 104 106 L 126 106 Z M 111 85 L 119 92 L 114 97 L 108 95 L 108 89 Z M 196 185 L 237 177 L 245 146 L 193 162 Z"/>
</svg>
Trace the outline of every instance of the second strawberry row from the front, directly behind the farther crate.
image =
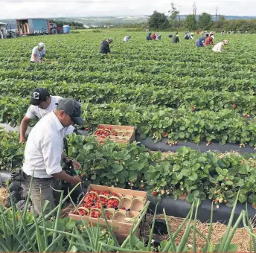
<svg viewBox="0 0 256 253">
<path fill-rule="evenodd" d="M 25 115 L 28 99 L 4 97 L 0 100 L 0 122 L 19 124 Z M 95 105 L 83 103 L 83 118 L 86 126 L 95 129 L 97 124 L 122 124 L 135 126 L 142 138 L 150 136 L 154 141 L 168 137 L 173 141 L 206 140 L 219 141 L 220 144 L 256 144 L 256 124 L 231 109 L 219 112 L 191 109 L 170 109 L 159 106 L 135 106 L 127 103 Z"/>
</svg>

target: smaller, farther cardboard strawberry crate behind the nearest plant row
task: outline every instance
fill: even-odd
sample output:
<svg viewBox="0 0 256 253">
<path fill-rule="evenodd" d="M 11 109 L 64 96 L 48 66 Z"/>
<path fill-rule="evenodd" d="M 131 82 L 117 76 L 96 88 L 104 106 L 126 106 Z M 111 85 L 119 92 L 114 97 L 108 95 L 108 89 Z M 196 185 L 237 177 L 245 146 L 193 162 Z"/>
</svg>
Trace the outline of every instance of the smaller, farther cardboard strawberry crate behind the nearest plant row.
<svg viewBox="0 0 256 253">
<path fill-rule="evenodd" d="M 135 140 L 135 127 L 100 124 L 94 135 L 102 143 L 107 138 L 118 143 L 129 143 Z"/>
</svg>

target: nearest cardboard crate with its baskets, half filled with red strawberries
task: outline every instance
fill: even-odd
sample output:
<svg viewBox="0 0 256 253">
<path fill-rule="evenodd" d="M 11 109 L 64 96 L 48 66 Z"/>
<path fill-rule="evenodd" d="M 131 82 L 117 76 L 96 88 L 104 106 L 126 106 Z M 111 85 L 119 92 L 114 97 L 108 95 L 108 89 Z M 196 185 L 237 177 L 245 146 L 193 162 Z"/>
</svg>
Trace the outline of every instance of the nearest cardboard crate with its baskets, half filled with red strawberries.
<svg viewBox="0 0 256 253">
<path fill-rule="evenodd" d="M 114 234 L 125 237 L 146 203 L 147 193 L 144 191 L 89 185 L 86 196 L 78 205 L 78 210 L 71 211 L 68 216 L 74 220 L 92 221 L 94 225 L 99 222 L 100 226 L 106 227 L 106 220 L 102 214 L 104 211 Z"/>
</svg>

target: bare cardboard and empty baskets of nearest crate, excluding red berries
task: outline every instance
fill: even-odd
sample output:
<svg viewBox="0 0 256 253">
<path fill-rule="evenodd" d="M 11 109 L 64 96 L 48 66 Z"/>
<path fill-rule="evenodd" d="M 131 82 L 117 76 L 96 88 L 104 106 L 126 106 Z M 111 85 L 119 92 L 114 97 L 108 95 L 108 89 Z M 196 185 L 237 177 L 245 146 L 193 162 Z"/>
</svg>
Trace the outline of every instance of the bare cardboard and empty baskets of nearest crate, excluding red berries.
<svg viewBox="0 0 256 253">
<path fill-rule="evenodd" d="M 105 208 L 104 211 L 105 214 L 113 214 L 112 218 L 108 220 L 108 223 L 112 228 L 115 236 L 119 240 L 124 240 L 132 230 L 132 224 L 135 221 L 135 218 L 139 216 L 141 209 L 144 208 L 144 205 L 147 203 L 147 193 L 139 190 L 112 188 L 100 185 L 89 185 L 87 193 L 93 192 L 94 190 L 100 190 L 100 192 L 102 192 L 103 190 L 109 190 L 111 193 L 117 193 L 118 195 L 120 195 L 118 209 L 115 210 L 114 208 Z M 83 205 L 84 198 L 81 200 L 78 208 Z M 123 207 L 126 210 L 121 209 Z M 91 222 L 92 220 L 93 225 L 97 225 L 97 222 L 99 222 L 99 225 L 101 227 L 106 228 L 106 221 L 104 220 L 102 214 L 97 219 L 90 216 L 80 217 L 79 214 L 74 214 L 74 212 L 75 211 L 71 211 L 71 213 L 68 214 L 68 217 L 71 217 L 71 219 L 74 220 L 83 219 L 88 222 Z M 139 234 L 139 230 L 135 232 L 135 235 L 137 234 Z"/>
</svg>

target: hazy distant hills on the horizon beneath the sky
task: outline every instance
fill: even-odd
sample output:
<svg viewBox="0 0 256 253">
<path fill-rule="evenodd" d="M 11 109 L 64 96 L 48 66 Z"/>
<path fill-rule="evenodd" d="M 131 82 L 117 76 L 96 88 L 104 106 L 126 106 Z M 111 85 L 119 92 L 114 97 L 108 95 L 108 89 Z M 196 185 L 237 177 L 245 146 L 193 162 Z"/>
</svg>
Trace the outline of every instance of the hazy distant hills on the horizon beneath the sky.
<svg viewBox="0 0 256 253">
<path fill-rule="evenodd" d="M 187 15 L 180 15 L 181 19 L 184 20 Z M 83 23 L 85 27 L 92 26 L 103 26 L 106 25 L 107 22 L 110 22 L 110 25 L 121 25 L 121 24 L 138 24 L 147 22 L 150 16 L 99 16 L 99 17 L 59 17 L 59 18 L 48 18 L 54 19 L 56 21 L 66 22 L 80 22 Z M 198 18 L 199 15 L 196 16 Z M 215 20 L 215 16 L 212 15 L 213 20 Z M 225 19 L 256 19 L 256 16 L 225 16 Z M 1 19 L 0 22 L 7 23 L 7 29 L 16 29 L 16 20 L 15 19 Z"/>
</svg>

